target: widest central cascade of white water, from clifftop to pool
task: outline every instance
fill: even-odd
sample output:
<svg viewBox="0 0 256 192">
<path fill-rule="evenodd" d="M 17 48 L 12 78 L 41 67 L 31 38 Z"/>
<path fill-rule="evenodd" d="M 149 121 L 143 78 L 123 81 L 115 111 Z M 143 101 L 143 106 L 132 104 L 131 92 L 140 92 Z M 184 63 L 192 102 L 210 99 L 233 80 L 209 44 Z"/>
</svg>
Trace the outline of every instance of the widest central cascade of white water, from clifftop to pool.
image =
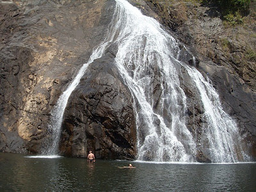
<svg viewBox="0 0 256 192">
<path fill-rule="evenodd" d="M 116 63 L 134 100 L 138 131 L 138 160 L 194 161 L 195 142 L 186 128 L 186 96 L 179 86 L 176 40 L 160 24 L 127 1 L 117 0 Z M 161 99 L 154 109 L 154 86 Z M 164 117 L 164 113 L 167 113 Z"/>
</svg>

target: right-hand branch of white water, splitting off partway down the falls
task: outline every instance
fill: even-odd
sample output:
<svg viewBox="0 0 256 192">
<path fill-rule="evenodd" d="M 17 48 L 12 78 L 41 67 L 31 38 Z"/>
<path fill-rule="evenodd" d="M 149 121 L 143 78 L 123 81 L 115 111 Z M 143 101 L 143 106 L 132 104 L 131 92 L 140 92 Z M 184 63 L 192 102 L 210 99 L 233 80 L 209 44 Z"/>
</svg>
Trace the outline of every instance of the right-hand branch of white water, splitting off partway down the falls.
<svg viewBox="0 0 256 192">
<path fill-rule="evenodd" d="M 221 107 L 218 93 L 195 68 L 187 68 L 189 76 L 193 79 L 202 105 L 205 109 L 207 126 L 204 127 L 204 140 L 209 144 L 212 161 L 217 163 L 237 162 L 239 159 L 250 161 L 241 146 L 241 136 L 236 122 L 228 116 Z"/>
</svg>

